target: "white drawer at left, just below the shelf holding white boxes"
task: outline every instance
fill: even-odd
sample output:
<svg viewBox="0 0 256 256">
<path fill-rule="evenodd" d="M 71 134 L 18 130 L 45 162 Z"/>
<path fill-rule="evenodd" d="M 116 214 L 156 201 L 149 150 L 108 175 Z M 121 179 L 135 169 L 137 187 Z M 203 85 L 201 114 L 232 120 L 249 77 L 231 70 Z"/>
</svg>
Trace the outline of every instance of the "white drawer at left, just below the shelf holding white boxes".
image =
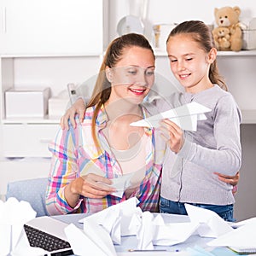
<svg viewBox="0 0 256 256">
<path fill-rule="evenodd" d="M 3 156 L 49 157 L 48 144 L 55 137 L 56 124 L 4 124 Z"/>
</svg>

